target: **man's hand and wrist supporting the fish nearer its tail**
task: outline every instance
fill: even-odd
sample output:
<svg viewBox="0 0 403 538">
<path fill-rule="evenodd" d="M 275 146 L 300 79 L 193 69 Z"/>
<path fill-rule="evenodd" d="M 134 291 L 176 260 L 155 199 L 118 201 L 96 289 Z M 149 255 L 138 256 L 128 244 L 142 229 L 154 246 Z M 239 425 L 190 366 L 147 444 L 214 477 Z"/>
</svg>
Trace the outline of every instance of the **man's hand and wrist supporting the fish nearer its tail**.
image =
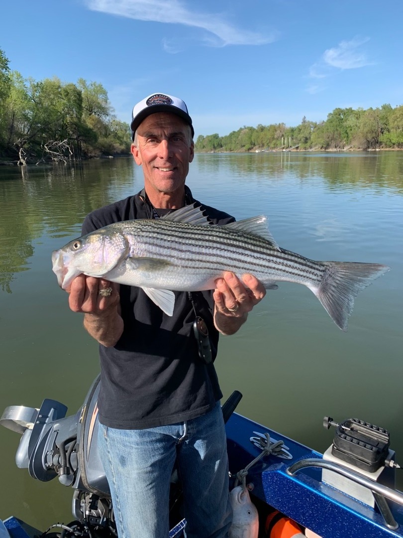
<svg viewBox="0 0 403 538">
<path fill-rule="evenodd" d="M 242 280 L 227 272 L 215 281 L 214 325 L 223 335 L 233 335 L 246 322 L 248 312 L 260 302 L 266 290 L 257 278 L 246 274 Z"/>
</svg>

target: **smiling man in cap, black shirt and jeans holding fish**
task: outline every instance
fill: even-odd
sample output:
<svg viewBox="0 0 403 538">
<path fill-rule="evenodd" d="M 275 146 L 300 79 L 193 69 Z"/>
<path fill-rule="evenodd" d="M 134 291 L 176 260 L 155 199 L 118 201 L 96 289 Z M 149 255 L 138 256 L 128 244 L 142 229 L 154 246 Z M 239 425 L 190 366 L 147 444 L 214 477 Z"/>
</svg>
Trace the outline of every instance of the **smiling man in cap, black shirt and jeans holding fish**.
<svg viewBox="0 0 403 538">
<path fill-rule="evenodd" d="M 93 211 L 83 233 L 112 222 L 159 218 L 195 203 L 185 179 L 194 157 L 185 103 L 154 94 L 133 108 L 131 152 L 145 188 Z M 198 202 L 196 202 L 198 203 Z M 198 203 L 201 205 L 200 203 Z M 202 206 L 214 224 L 233 217 Z M 187 538 L 227 536 L 231 525 L 222 397 L 212 362 L 199 357 L 193 324 L 205 321 L 212 359 L 218 334 L 234 334 L 265 289 L 232 273 L 207 292 L 176 292 L 167 316 L 136 287 L 79 275 L 69 305 L 100 344 L 99 451 L 119 538 L 168 536 L 169 482 L 175 461 L 184 491 Z"/>
</svg>

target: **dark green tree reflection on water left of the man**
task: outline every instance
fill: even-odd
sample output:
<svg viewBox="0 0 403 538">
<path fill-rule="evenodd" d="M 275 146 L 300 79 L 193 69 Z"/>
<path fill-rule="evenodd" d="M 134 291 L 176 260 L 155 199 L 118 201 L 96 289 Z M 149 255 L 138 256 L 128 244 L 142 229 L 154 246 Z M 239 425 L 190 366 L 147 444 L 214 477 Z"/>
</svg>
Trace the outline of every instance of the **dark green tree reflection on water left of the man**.
<svg viewBox="0 0 403 538">
<path fill-rule="evenodd" d="M 132 192 L 132 159 L 21 166 L 0 171 L 0 287 L 11 293 L 15 273 L 27 270 L 42 236 L 80 235 L 85 215 Z"/>
</svg>

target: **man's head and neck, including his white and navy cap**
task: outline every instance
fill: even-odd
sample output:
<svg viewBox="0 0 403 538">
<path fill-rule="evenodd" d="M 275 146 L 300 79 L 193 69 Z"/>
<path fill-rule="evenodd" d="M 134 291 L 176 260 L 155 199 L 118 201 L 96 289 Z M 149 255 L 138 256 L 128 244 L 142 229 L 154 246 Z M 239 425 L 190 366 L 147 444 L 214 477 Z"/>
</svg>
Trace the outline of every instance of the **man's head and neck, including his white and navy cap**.
<svg viewBox="0 0 403 538">
<path fill-rule="evenodd" d="M 146 192 L 155 207 L 183 204 L 194 156 L 191 122 L 186 105 L 176 97 L 155 94 L 133 109 L 131 152 L 143 169 Z"/>
</svg>

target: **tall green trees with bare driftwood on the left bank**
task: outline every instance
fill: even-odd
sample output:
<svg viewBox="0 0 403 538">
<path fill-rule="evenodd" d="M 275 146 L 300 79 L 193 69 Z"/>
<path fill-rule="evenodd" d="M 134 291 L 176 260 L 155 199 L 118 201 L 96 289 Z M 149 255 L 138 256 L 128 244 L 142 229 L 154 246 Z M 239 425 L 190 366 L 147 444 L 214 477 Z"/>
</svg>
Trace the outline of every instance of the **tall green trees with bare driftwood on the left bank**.
<svg viewBox="0 0 403 538">
<path fill-rule="evenodd" d="M 129 125 L 98 82 L 35 81 L 12 71 L 0 49 L 0 158 L 18 164 L 128 154 Z"/>
</svg>

